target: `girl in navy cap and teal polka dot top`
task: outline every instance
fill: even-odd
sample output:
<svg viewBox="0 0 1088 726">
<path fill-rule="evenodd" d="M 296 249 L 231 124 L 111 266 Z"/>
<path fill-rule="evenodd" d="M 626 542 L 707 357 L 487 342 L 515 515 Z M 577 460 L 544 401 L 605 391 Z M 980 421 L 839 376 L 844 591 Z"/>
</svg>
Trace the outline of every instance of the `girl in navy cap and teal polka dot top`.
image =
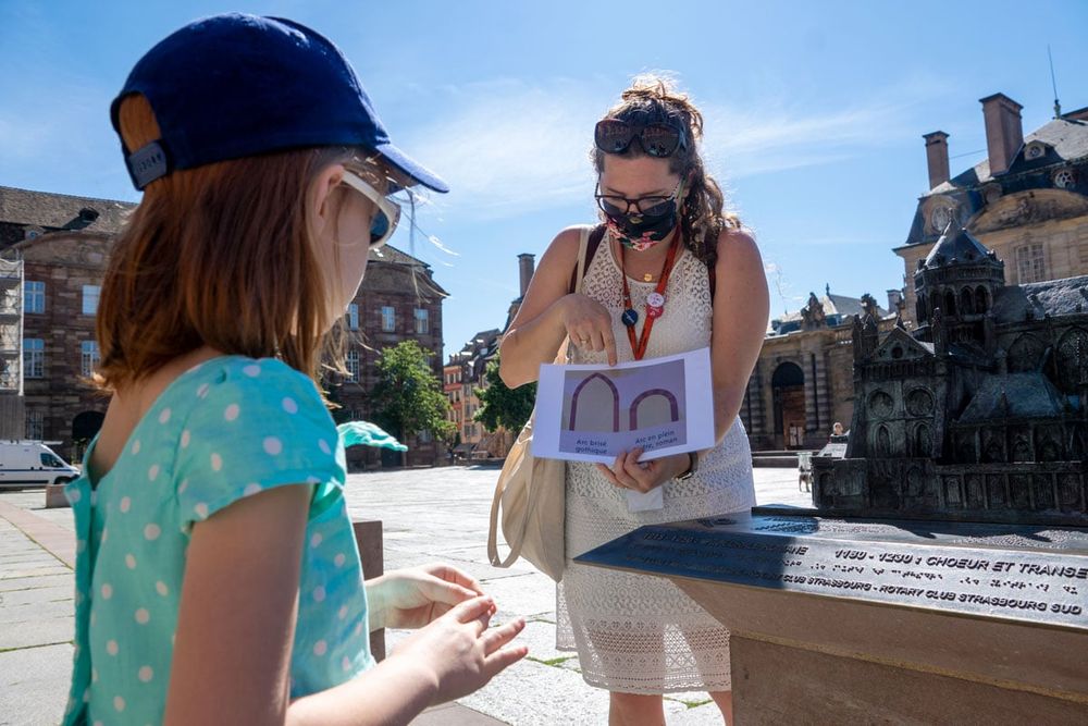
<svg viewBox="0 0 1088 726">
<path fill-rule="evenodd" d="M 390 143 L 339 51 L 221 15 L 113 102 L 144 199 L 101 292 L 112 392 L 84 476 L 66 724 L 401 724 L 526 654 L 523 622 L 432 566 L 363 581 L 326 333 L 399 210 L 446 190 Z M 371 629 L 421 627 L 380 664 Z"/>
</svg>

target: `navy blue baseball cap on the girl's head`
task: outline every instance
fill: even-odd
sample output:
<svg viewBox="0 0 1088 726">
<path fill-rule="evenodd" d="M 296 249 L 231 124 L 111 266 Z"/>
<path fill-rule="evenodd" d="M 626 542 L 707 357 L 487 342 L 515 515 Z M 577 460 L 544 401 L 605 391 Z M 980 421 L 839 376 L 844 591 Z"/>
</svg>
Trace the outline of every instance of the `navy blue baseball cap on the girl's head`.
<svg viewBox="0 0 1088 726">
<path fill-rule="evenodd" d="M 143 94 L 162 137 L 122 148 L 143 189 L 174 169 L 312 146 L 358 146 L 435 192 L 442 179 L 393 145 L 351 65 L 293 21 L 243 13 L 189 23 L 136 63 L 110 107 Z"/>
</svg>

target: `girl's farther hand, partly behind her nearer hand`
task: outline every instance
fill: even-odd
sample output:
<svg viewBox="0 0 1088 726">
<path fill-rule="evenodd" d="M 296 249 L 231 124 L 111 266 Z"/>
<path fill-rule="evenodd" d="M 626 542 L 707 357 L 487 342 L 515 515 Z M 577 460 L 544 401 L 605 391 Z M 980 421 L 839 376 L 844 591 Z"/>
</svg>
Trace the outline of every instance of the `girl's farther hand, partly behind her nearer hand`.
<svg viewBox="0 0 1088 726">
<path fill-rule="evenodd" d="M 455 605 L 483 594 L 480 583 L 449 565 L 395 569 L 367 580 L 371 628 L 421 628 Z"/>
</svg>

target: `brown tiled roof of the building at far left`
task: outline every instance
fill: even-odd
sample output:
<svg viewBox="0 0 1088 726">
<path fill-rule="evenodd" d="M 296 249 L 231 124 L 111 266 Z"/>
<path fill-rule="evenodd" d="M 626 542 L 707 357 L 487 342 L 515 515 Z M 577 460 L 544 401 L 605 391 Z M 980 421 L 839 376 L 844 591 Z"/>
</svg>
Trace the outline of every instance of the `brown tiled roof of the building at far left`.
<svg viewBox="0 0 1088 726">
<path fill-rule="evenodd" d="M 45 231 L 89 230 L 116 234 L 135 208 L 132 202 L 115 199 L 0 186 L 0 223 L 38 226 Z"/>
</svg>

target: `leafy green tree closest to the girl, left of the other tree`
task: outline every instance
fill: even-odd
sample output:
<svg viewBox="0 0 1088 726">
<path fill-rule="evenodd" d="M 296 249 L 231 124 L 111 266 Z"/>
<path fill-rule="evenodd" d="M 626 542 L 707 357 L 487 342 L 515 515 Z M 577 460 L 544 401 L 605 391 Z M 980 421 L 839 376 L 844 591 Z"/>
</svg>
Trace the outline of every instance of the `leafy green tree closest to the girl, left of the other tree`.
<svg viewBox="0 0 1088 726">
<path fill-rule="evenodd" d="M 428 353 L 416 341 L 403 341 L 382 350 L 378 361 L 378 383 L 371 392 L 379 423 L 406 434 L 430 431 L 449 441 L 456 427 L 447 419 L 449 402 L 438 378 L 428 364 Z"/>
</svg>

